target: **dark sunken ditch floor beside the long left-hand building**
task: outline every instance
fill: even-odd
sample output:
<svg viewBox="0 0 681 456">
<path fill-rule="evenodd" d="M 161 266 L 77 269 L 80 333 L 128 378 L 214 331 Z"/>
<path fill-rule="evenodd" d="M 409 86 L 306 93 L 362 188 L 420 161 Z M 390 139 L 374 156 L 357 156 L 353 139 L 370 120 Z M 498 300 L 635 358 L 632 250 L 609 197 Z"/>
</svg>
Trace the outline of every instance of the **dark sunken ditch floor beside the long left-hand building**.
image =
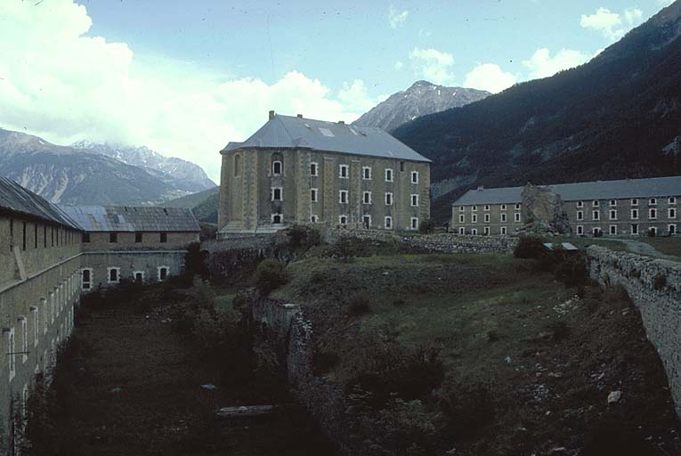
<svg viewBox="0 0 681 456">
<path fill-rule="evenodd" d="M 53 387 L 32 396 L 22 454 L 333 454 L 296 407 L 255 422 L 215 420 L 217 405 L 288 398 L 255 379 L 235 336 L 238 316 L 214 298 L 203 284 L 85 298 Z M 201 387 L 208 384 L 217 389 Z"/>
</svg>

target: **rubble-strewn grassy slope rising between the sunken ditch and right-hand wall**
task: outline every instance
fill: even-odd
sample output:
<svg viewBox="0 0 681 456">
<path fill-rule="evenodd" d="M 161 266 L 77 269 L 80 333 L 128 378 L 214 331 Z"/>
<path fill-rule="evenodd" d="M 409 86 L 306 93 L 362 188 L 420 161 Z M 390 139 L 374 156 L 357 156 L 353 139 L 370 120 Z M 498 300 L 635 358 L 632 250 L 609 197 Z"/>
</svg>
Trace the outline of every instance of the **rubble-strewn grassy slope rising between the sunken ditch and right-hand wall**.
<svg viewBox="0 0 681 456">
<path fill-rule="evenodd" d="M 272 297 L 304 305 L 315 369 L 355 401 L 352 432 L 372 429 L 367 444 L 457 456 L 681 449 L 661 361 L 621 289 L 565 287 L 545 265 L 502 255 L 316 256 L 286 274 Z"/>
</svg>

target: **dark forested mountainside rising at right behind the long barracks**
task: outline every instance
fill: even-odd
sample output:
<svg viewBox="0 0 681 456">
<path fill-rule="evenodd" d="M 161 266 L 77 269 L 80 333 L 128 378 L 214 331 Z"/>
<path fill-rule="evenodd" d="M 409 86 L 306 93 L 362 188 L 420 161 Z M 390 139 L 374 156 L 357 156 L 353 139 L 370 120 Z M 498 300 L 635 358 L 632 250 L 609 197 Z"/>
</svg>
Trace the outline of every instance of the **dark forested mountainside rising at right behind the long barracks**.
<svg viewBox="0 0 681 456">
<path fill-rule="evenodd" d="M 592 61 L 393 134 L 433 160 L 434 216 L 478 185 L 681 174 L 681 1 Z"/>
</svg>

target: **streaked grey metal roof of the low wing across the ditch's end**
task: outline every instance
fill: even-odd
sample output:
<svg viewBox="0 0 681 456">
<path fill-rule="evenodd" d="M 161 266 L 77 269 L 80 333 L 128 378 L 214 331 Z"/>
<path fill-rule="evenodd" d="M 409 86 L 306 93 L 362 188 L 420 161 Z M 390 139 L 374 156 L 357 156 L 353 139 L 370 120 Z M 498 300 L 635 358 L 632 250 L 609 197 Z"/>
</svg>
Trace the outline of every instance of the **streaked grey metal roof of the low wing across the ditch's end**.
<svg viewBox="0 0 681 456">
<path fill-rule="evenodd" d="M 199 232 L 187 208 L 61 206 L 86 232 Z"/>
</svg>

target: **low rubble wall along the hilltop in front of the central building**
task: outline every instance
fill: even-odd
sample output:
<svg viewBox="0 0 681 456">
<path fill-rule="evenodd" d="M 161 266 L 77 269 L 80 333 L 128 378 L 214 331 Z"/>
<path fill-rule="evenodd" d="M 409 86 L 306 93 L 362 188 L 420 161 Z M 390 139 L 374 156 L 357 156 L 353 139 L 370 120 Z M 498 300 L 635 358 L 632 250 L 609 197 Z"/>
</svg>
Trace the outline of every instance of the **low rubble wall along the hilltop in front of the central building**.
<svg viewBox="0 0 681 456">
<path fill-rule="evenodd" d="M 396 240 L 412 248 L 424 248 L 444 253 L 511 253 L 517 238 L 506 236 L 466 236 L 454 233 L 413 234 L 401 236 L 382 230 L 339 230 L 330 228 L 323 234 L 328 243 L 344 237 L 362 240 Z"/>
</svg>

